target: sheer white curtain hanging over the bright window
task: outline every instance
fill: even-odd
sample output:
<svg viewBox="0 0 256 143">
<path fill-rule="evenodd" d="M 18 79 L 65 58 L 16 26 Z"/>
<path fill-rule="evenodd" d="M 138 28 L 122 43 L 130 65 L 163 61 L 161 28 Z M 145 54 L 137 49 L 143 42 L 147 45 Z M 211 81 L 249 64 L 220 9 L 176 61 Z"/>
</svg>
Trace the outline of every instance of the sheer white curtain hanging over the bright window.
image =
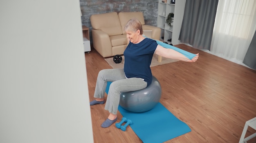
<svg viewBox="0 0 256 143">
<path fill-rule="evenodd" d="M 243 63 L 255 30 L 256 0 L 219 0 L 211 52 L 229 61 Z"/>
</svg>

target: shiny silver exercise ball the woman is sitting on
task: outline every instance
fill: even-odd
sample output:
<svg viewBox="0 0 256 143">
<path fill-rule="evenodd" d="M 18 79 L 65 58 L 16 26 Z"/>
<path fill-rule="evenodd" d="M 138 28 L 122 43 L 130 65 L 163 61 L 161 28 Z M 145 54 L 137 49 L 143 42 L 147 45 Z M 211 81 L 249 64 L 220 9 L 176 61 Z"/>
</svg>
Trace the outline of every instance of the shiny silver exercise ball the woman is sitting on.
<svg viewBox="0 0 256 143">
<path fill-rule="evenodd" d="M 119 105 L 131 112 L 146 112 L 153 109 L 161 98 L 162 89 L 157 78 L 145 89 L 123 92 Z"/>
</svg>

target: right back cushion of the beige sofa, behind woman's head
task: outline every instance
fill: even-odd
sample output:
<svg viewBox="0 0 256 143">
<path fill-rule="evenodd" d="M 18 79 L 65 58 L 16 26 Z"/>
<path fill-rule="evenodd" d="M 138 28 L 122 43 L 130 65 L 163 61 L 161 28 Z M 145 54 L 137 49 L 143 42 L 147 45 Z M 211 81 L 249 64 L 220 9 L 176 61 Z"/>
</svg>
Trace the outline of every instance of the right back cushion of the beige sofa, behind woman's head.
<svg viewBox="0 0 256 143">
<path fill-rule="evenodd" d="M 137 20 L 139 20 L 139 22 L 142 25 L 145 24 L 142 12 L 120 12 L 118 13 L 118 16 L 121 23 L 123 34 L 126 34 L 126 32 L 124 31 L 124 26 L 126 26 L 126 23 L 132 18 L 136 18 Z"/>
</svg>

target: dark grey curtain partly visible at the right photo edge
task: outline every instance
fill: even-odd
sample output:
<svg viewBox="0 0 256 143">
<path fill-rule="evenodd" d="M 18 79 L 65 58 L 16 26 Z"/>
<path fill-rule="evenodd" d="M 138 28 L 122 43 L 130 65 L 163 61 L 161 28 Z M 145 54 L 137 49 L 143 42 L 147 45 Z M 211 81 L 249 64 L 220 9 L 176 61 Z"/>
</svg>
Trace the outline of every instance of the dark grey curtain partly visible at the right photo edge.
<svg viewBox="0 0 256 143">
<path fill-rule="evenodd" d="M 256 70 L 256 31 L 247 50 L 243 63 Z"/>
</svg>

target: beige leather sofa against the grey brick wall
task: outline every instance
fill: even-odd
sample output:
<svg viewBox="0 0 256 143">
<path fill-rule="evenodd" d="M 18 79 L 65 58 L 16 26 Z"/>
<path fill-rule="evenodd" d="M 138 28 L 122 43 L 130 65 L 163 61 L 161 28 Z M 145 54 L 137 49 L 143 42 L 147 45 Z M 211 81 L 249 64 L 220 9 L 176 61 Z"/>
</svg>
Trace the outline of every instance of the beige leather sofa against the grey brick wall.
<svg viewBox="0 0 256 143">
<path fill-rule="evenodd" d="M 124 26 L 132 18 L 137 18 L 141 22 L 143 30 L 152 30 L 152 39 L 159 40 L 161 29 L 145 25 L 142 12 L 103 13 L 90 17 L 94 49 L 104 58 L 124 54 L 127 47 Z"/>
</svg>

